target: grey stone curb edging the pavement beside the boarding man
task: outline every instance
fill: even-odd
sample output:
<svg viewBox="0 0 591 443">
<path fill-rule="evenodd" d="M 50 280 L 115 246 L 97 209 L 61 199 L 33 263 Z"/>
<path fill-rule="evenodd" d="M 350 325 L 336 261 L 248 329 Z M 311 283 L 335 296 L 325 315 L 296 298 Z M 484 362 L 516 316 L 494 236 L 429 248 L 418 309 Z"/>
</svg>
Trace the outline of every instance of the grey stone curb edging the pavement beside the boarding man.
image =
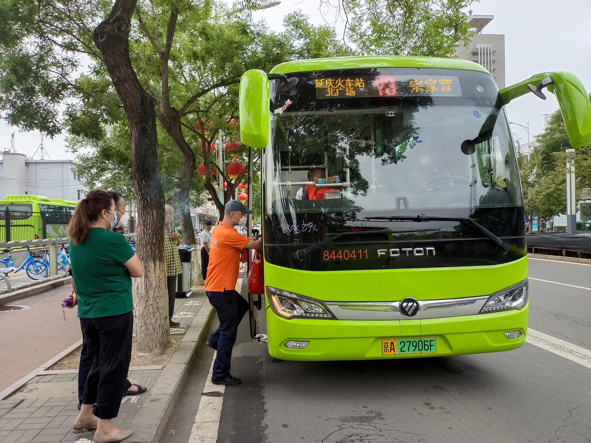
<svg viewBox="0 0 591 443">
<path fill-rule="evenodd" d="M 135 429 L 135 432 L 126 442 L 157 443 L 160 440 L 174 403 L 187 379 L 189 368 L 205 340 L 214 312 L 212 305 L 205 300 L 187 328 L 183 341 L 178 345 L 152 389 L 148 391 L 144 404 L 129 424 L 128 428 Z"/>
</svg>

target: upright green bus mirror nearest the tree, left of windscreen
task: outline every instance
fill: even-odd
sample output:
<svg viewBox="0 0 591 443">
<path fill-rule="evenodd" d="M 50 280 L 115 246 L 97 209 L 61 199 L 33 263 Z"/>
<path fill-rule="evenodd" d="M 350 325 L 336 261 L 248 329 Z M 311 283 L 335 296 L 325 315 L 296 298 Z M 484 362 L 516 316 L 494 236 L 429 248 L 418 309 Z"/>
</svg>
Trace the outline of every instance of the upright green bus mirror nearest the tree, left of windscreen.
<svg viewBox="0 0 591 443">
<path fill-rule="evenodd" d="M 267 74 L 251 69 L 240 80 L 240 140 L 252 148 L 267 148 L 271 111 L 271 82 Z"/>
</svg>

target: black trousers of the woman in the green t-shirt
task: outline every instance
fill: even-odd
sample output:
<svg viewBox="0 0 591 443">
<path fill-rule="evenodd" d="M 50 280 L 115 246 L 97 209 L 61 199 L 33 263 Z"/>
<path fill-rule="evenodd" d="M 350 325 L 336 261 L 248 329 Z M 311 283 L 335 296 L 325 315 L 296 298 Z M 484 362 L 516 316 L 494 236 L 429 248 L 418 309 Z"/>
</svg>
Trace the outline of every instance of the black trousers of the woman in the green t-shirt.
<svg viewBox="0 0 591 443">
<path fill-rule="evenodd" d="M 134 314 L 129 311 L 110 317 L 80 318 L 80 327 L 93 357 L 82 403 L 96 403 L 95 415 L 100 419 L 115 418 L 129 372 Z"/>
</svg>

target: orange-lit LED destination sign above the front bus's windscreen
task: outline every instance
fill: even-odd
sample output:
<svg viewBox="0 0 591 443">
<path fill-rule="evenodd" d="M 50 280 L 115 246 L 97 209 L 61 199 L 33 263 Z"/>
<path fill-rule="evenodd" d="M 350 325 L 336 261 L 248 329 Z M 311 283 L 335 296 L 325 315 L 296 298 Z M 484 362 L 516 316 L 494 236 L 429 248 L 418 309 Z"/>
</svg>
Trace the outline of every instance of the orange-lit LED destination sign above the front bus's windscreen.
<svg viewBox="0 0 591 443">
<path fill-rule="evenodd" d="M 454 76 L 321 77 L 315 84 L 317 99 L 462 96 Z"/>
</svg>

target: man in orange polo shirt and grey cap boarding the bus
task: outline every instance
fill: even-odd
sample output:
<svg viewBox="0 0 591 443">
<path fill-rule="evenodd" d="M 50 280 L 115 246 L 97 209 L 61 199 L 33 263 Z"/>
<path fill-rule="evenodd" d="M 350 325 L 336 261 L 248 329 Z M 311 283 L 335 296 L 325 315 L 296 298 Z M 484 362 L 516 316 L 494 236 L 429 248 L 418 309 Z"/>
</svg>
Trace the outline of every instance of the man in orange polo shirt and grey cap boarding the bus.
<svg viewBox="0 0 591 443">
<path fill-rule="evenodd" d="M 205 282 L 207 298 L 216 308 L 220 325 L 206 344 L 217 350 L 212 383 L 237 385 L 242 380 L 230 374 L 230 360 L 232 348 L 236 343 L 238 325 L 248 311 L 248 302 L 236 291 L 240 252 L 245 247 L 261 249 L 262 239 L 249 239 L 234 229 L 235 226 L 244 226 L 246 214 L 252 213 L 238 200 L 228 201 L 224 212 L 223 220 L 212 230 Z"/>
</svg>

